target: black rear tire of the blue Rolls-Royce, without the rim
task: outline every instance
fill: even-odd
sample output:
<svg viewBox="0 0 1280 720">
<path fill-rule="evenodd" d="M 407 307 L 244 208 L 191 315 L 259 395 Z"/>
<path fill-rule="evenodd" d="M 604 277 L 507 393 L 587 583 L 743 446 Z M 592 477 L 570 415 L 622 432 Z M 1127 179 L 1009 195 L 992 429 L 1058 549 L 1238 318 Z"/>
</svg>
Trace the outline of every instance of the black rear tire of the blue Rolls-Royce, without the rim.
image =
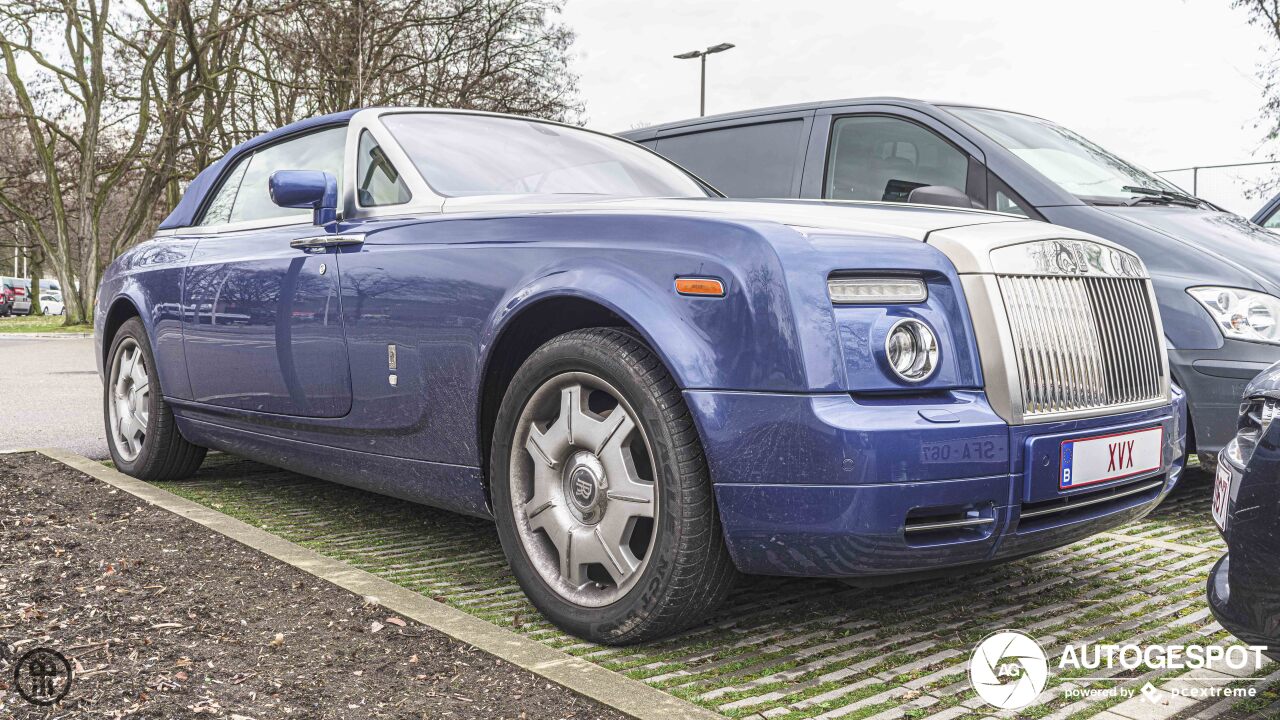
<svg viewBox="0 0 1280 720">
<path fill-rule="evenodd" d="M 148 416 L 146 430 L 137 455 L 132 459 L 116 447 L 120 442 L 118 432 L 111 427 L 113 373 L 122 346 L 136 343 L 146 361 L 146 375 L 150 384 Z M 173 410 L 164 400 L 160 375 L 156 372 L 151 342 L 142 327 L 142 320 L 131 318 L 120 325 L 111 338 L 111 351 L 106 356 L 106 383 L 102 387 L 102 419 L 106 424 L 106 446 L 111 451 L 115 468 L 127 475 L 141 480 L 180 480 L 189 478 L 205 460 L 206 448 L 187 442 L 178 430 Z"/>
</svg>

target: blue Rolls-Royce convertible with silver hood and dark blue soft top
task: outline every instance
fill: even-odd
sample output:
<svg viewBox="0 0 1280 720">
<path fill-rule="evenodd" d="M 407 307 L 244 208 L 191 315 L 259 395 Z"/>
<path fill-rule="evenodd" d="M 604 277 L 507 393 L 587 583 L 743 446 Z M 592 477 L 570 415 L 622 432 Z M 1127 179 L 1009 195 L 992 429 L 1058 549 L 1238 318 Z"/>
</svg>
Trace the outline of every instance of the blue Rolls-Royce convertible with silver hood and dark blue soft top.
<svg viewBox="0 0 1280 720">
<path fill-rule="evenodd" d="M 532 602 L 626 643 L 737 571 L 1023 556 L 1181 470 L 1142 261 L 1006 214 L 732 201 L 526 118 L 328 115 L 201 173 L 95 313 L 116 466 L 205 448 L 493 518 Z"/>
</svg>

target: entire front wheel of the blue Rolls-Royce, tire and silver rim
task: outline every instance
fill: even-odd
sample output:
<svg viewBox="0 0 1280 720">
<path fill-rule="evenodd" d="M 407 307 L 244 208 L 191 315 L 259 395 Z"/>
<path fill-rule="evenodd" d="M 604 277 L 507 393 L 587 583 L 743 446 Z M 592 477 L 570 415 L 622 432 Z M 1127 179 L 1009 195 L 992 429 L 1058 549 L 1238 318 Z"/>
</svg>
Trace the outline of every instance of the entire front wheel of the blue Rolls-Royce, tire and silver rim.
<svg viewBox="0 0 1280 720">
<path fill-rule="evenodd" d="M 525 361 L 498 411 L 490 478 L 516 579 L 568 633 L 675 633 L 736 577 L 689 409 L 631 333 L 575 331 Z"/>
</svg>

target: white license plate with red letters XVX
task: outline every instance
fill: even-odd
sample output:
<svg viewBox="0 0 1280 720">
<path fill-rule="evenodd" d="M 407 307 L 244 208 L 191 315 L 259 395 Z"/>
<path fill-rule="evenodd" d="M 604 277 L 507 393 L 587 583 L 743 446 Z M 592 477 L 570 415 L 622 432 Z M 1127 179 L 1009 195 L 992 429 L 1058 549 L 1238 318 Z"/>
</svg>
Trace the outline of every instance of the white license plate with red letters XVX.
<svg viewBox="0 0 1280 720">
<path fill-rule="evenodd" d="M 1162 427 L 1064 441 L 1059 488 L 1071 489 L 1158 470 L 1164 448 Z"/>
</svg>

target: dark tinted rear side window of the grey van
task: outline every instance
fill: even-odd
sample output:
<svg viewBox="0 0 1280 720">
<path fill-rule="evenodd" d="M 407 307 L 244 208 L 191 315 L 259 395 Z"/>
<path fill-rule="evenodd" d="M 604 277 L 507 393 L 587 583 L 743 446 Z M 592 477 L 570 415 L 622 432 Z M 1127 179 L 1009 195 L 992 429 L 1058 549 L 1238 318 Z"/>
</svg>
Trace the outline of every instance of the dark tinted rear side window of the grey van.
<svg viewBox="0 0 1280 720">
<path fill-rule="evenodd" d="M 804 120 L 659 137 L 657 150 L 730 197 L 794 197 Z"/>
</svg>

